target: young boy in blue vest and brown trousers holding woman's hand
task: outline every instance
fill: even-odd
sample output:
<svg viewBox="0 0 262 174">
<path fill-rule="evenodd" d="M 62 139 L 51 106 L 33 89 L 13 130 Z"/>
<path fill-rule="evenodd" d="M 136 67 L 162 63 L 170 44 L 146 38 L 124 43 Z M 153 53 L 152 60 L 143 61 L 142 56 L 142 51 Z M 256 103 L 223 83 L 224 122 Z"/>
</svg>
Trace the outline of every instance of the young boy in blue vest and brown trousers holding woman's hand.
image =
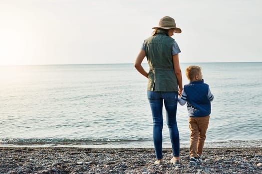
<svg viewBox="0 0 262 174">
<path fill-rule="evenodd" d="M 184 86 L 182 96 L 178 98 L 181 105 L 187 103 L 190 128 L 190 164 L 202 162 L 206 132 L 211 113 L 211 102 L 214 99 L 208 84 L 202 79 L 201 67 L 189 66 L 186 69 L 186 76 L 190 81 Z"/>
</svg>

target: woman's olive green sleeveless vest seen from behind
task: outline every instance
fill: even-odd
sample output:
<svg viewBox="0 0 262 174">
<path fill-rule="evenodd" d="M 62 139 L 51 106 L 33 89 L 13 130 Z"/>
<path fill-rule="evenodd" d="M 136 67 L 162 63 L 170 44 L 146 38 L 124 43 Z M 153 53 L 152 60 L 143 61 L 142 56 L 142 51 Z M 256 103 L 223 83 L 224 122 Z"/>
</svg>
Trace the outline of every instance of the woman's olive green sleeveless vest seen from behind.
<svg viewBox="0 0 262 174">
<path fill-rule="evenodd" d="M 172 46 L 174 39 L 160 30 L 144 41 L 150 67 L 147 89 L 151 91 L 178 91 L 174 72 Z"/>
</svg>

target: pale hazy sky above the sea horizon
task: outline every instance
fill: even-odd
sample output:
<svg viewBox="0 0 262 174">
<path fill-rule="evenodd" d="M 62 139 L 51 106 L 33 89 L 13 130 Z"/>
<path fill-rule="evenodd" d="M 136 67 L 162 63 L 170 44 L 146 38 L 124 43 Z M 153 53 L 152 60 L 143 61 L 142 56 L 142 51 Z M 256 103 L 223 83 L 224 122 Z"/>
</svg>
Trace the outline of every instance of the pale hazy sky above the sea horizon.
<svg viewBox="0 0 262 174">
<path fill-rule="evenodd" d="M 163 16 L 180 62 L 262 62 L 262 0 L 0 0 L 0 66 L 133 63 Z"/>
</svg>

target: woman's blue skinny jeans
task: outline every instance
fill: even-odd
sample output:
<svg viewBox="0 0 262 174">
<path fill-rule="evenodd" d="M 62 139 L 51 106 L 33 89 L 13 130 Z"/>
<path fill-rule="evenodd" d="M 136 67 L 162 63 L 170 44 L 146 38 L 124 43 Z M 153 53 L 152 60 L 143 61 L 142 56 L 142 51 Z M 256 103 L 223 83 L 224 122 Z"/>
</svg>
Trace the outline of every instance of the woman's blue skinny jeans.
<svg viewBox="0 0 262 174">
<path fill-rule="evenodd" d="M 178 92 L 147 91 L 153 117 L 153 140 L 156 158 L 163 159 L 162 154 L 162 129 L 163 129 L 163 101 L 166 108 L 167 126 L 172 144 L 174 157 L 179 157 L 179 132 L 177 127 L 177 98 Z"/>
</svg>

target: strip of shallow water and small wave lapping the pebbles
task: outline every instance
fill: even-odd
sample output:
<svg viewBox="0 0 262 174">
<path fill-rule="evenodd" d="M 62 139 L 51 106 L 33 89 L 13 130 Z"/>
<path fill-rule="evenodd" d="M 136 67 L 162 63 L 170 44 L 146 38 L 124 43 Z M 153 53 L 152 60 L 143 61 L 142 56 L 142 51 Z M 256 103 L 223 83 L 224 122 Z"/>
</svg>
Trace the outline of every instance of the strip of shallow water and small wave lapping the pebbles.
<svg viewBox="0 0 262 174">
<path fill-rule="evenodd" d="M 153 140 L 146 141 L 101 141 L 101 140 L 52 140 L 52 139 L 2 139 L 0 140 L 1 147 L 12 148 L 154 148 Z M 171 142 L 163 141 L 163 148 L 170 148 Z M 188 148 L 189 141 L 180 141 L 180 148 Z M 225 140 L 225 141 L 206 141 L 206 148 L 262 148 L 262 139 L 258 140 Z"/>
</svg>

